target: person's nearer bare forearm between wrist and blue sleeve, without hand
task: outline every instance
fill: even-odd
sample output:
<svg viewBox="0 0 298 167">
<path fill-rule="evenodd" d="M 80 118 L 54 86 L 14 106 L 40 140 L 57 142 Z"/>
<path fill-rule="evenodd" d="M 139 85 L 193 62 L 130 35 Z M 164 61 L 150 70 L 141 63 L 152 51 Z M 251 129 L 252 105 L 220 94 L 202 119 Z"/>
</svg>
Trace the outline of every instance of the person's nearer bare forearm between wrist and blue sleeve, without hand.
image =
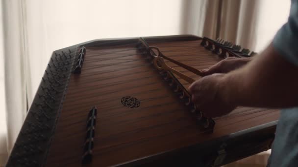
<svg viewBox="0 0 298 167">
<path fill-rule="evenodd" d="M 219 83 L 227 103 L 283 108 L 298 105 L 298 67 L 278 55 L 272 44 Z"/>
</svg>

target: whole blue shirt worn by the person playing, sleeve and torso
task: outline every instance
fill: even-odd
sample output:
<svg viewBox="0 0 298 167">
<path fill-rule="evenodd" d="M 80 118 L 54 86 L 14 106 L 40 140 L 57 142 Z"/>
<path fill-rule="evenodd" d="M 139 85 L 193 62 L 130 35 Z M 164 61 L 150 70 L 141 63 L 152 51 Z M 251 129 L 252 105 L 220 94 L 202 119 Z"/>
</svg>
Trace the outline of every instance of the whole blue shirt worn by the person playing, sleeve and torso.
<svg viewBox="0 0 298 167">
<path fill-rule="evenodd" d="M 276 33 L 273 47 L 298 66 L 298 0 L 292 0 L 288 22 Z M 298 107 L 281 110 L 268 166 L 298 167 Z"/>
</svg>

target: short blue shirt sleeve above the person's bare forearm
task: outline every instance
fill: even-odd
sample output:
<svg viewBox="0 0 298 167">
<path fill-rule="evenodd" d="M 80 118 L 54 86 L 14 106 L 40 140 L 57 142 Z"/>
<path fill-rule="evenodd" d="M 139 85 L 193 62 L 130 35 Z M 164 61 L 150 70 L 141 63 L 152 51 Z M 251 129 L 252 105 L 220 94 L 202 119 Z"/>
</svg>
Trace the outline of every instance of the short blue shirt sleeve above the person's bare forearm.
<svg viewBox="0 0 298 167">
<path fill-rule="evenodd" d="M 273 47 L 285 59 L 298 66 L 298 0 L 292 0 L 288 22 L 277 31 Z"/>
</svg>

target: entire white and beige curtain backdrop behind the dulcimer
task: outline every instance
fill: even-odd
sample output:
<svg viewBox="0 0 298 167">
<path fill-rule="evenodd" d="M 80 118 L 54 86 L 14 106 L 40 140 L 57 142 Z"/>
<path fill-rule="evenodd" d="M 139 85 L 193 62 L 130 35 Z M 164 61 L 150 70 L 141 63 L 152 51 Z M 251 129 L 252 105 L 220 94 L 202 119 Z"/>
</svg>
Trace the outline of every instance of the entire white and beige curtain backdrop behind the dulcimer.
<svg viewBox="0 0 298 167">
<path fill-rule="evenodd" d="M 2 0 L 7 133 L 2 126 L 0 151 L 6 150 L 1 134 L 7 136 L 3 155 L 11 150 L 53 50 L 102 38 L 194 34 L 260 51 L 286 21 L 289 5 L 290 0 Z"/>
</svg>

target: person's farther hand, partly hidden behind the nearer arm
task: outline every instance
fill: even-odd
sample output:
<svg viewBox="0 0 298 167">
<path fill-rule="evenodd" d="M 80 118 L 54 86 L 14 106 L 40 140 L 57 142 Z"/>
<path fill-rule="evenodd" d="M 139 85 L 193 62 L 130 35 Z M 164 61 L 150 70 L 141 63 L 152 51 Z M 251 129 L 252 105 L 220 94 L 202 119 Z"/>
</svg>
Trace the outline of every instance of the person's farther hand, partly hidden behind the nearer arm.
<svg viewBox="0 0 298 167">
<path fill-rule="evenodd" d="M 250 58 L 235 58 L 235 57 L 228 57 L 219 63 L 216 63 L 209 67 L 206 70 L 202 70 L 202 75 L 211 75 L 215 73 L 228 73 L 235 69 L 238 69 L 248 63 L 251 59 Z"/>
</svg>

